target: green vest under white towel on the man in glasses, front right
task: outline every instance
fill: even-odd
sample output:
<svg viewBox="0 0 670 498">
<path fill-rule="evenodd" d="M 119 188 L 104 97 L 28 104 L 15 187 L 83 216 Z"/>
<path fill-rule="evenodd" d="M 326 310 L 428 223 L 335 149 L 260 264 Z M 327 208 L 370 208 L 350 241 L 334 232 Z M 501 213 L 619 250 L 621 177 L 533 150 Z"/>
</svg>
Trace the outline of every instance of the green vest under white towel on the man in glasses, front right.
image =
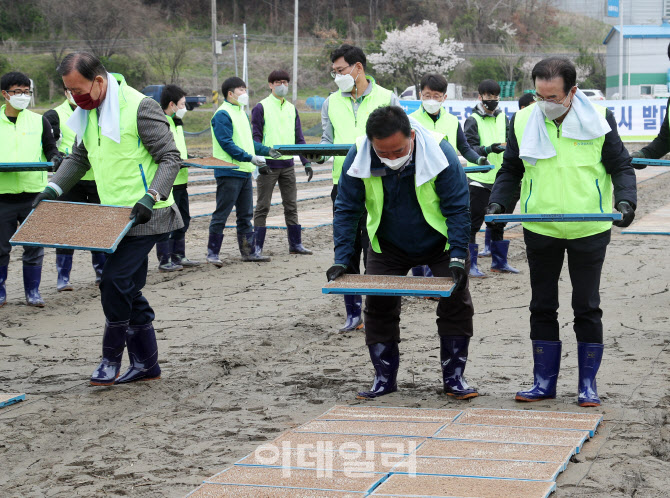
<svg viewBox="0 0 670 498">
<path fill-rule="evenodd" d="M 603 116 L 607 109 L 595 105 Z M 514 134 L 521 143 L 533 106 L 520 110 L 514 119 Z M 556 156 L 539 159 L 535 165 L 523 161 L 521 212 L 537 214 L 611 213 L 612 179 L 602 163 L 605 136 L 575 140 L 559 136 L 553 121 L 545 119 Z M 559 239 L 577 239 L 605 232 L 609 221 L 523 223 L 531 232 Z"/>
</svg>

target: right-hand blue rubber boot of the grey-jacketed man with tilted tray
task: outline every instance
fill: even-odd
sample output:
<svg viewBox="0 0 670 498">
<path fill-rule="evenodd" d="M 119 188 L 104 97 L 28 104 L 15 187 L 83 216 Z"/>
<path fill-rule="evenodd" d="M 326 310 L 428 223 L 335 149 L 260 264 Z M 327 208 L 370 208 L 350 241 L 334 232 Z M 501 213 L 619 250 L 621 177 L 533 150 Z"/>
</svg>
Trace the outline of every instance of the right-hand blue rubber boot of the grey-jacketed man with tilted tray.
<svg viewBox="0 0 670 498">
<path fill-rule="evenodd" d="M 128 346 L 130 368 L 116 379 L 116 384 L 161 378 L 161 367 L 158 365 L 158 344 L 156 344 L 156 331 L 153 324 L 128 326 L 126 346 Z"/>
</svg>

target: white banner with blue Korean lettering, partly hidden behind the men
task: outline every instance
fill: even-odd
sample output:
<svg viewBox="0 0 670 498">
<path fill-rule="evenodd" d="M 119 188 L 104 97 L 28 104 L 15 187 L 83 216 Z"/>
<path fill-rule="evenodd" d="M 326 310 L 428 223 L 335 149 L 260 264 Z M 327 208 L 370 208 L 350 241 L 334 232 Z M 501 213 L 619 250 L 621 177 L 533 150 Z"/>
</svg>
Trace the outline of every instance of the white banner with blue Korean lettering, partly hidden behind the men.
<svg viewBox="0 0 670 498">
<path fill-rule="evenodd" d="M 622 138 L 637 138 L 641 141 L 653 139 L 658 135 L 665 118 L 667 106 L 666 100 L 661 99 L 642 99 L 642 100 L 600 100 L 595 104 L 607 107 L 614 113 L 614 117 L 619 125 L 619 135 Z M 408 114 L 419 108 L 419 100 L 401 100 L 400 105 Z M 472 114 L 472 109 L 477 102 L 465 100 L 447 100 L 444 103 L 445 109 L 456 116 L 461 123 Z M 501 109 L 504 109 L 508 118 L 512 118 L 514 113 L 519 110 L 519 104 L 516 100 L 504 100 L 500 102 Z"/>
</svg>

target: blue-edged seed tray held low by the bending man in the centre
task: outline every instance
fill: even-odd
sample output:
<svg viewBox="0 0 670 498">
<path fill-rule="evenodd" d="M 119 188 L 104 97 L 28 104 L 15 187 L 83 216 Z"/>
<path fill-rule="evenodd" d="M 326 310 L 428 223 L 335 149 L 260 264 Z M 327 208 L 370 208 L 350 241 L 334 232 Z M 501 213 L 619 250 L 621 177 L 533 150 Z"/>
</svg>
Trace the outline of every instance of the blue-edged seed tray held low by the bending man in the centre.
<svg viewBox="0 0 670 498">
<path fill-rule="evenodd" d="M 454 282 L 448 277 L 346 274 L 328 282 L 322 292 L 358 296 L 449 297 L 453 289 Z"/>
</svg>

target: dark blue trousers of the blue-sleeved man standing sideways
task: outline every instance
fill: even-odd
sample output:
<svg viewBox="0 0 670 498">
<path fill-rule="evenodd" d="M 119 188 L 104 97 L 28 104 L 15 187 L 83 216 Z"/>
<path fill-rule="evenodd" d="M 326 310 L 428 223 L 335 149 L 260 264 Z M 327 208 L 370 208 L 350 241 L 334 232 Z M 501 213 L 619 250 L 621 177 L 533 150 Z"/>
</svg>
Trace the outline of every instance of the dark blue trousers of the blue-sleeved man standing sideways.
<svg viewBox="0 0 670 498">
<path fill-rule="evenodd" d="M 223 233 L 233 206 L 237 215 L 237 233 L 253 231 L 251 218 L 254 214 L 254 190 L 251 175 L 245 178 L 220 176 L 216 179 L 216 210 L 209 223 L 209 233 Z"/>
</svg>

